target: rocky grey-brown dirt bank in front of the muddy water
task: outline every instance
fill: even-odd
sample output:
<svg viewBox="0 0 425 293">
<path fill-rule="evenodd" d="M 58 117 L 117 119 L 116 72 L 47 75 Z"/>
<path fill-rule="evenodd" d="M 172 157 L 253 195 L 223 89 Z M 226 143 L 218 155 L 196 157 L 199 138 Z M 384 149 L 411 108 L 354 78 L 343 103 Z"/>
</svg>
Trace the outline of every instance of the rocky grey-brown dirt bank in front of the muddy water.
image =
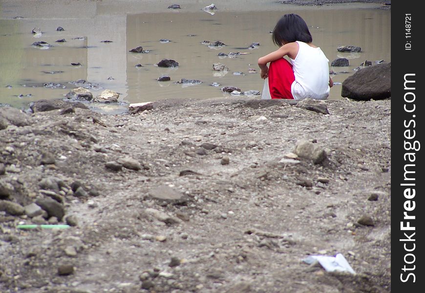
<svg viewBox="0 0 425 293">
<path fill-rule="evenodd" d="M 390 292 L 390 100 L 325 105 L 3 113 L 0 291 Z"/>
</svg>

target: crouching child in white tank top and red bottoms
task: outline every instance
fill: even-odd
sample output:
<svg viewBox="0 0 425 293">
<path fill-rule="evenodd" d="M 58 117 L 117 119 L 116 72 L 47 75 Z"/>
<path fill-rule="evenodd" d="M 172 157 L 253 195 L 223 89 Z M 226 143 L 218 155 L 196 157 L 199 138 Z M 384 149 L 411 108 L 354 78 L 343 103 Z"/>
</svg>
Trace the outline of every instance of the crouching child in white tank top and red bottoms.
<svg viewBox="0 0 425 293">
<path fill-rule="evenodd" d="M 333 85 L 329 60 L 311 43 L 305 21 L 297 14 L 285 14 L 276 23 L 273 42 L 280 48 L 258 59 L 265 79 L 262 99 L 326 99 Z M 286 55 L 291 63 L 283 58 Z"/>
</svg>

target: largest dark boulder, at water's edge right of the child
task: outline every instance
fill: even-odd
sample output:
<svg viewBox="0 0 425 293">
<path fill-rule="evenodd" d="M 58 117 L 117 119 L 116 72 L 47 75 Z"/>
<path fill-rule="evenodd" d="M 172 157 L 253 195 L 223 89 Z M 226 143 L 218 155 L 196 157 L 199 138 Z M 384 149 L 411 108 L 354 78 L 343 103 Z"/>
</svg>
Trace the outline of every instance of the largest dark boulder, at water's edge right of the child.
<svg viewBox="0 0 425 293">
<path fill-rule="evenodd" d="M 382 100 L 391 97 L 391 63 L 357 71 L 342 82 L 341 96 L 357 101 Z"/>
</svg>

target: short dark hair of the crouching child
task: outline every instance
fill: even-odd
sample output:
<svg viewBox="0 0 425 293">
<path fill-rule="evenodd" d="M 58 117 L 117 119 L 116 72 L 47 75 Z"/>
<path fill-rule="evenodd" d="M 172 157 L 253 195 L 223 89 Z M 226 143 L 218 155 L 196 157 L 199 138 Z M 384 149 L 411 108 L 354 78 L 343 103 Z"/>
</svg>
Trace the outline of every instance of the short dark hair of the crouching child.
<svg viewBox="0 0 425 293">
<path fill-rule="evenodd" d="M 307 23 L 297 14 L 285 14 L 273 30 L 273 42 L 279 47 L 283 42 L 312 42 Z"/>
</svg>

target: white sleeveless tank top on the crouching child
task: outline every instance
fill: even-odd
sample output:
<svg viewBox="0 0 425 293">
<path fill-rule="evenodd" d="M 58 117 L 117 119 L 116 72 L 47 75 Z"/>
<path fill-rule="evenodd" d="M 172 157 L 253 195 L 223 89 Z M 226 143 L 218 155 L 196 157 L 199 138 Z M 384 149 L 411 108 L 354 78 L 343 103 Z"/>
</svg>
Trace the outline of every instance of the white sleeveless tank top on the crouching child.
<svg viewBox="0 0 425 293">
<path fill-rule="evenodd" d="M 291 59 L 295 81 L 291 92 L 295 100 L 325 100 L 329 96 L 329 60 L 322 50 L 297 41 L 298 54 Z"/>
</svg>

